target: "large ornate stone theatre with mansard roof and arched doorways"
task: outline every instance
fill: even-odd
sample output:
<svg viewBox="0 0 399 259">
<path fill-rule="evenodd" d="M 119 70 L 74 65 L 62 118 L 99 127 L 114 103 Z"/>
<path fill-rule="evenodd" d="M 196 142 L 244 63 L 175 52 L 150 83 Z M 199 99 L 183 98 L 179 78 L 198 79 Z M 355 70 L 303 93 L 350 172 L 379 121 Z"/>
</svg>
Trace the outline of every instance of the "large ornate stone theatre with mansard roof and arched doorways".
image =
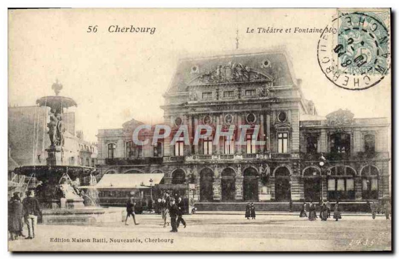
<svg viewBox="0 0 399 259">
<path fill-rule="evenodd" d="M 318 115 L 284 51 L 183 59 L 164 97 L 171 134 L 156 144 L 132 141 L 142 124 L 135 120 L 98 131 L 103 174 L 162 173 L 161 187 L 187 184 L 192 191 L 185 195 L 199 205 L 356 203 L 390 195 L 390 120 L 356 118 L 348 110 Z M 182 125 L 190 144 L 183 138 L 171 144 Z M 200 125 L 212 134 L 195 145 Z M 223 131 L 234 125 L 234 137 L 215 145 L 218 125 Z"/>
</svg>

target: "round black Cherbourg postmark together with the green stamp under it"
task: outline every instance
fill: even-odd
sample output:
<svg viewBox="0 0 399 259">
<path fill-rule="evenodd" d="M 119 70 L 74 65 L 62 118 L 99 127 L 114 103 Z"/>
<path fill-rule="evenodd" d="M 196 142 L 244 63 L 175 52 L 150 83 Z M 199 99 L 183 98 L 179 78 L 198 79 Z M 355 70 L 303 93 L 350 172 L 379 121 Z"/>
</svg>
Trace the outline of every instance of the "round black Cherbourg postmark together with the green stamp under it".
<svg viewBox="0 0 399 259">
<path fill-rule="evenodd" d="M 385 24 L 389 17 L 389 12 L 338 12 L 317 46 L 320 68 L 333 84 L 363 90 L 388 75 L 390 33 Z"/>
</svg>

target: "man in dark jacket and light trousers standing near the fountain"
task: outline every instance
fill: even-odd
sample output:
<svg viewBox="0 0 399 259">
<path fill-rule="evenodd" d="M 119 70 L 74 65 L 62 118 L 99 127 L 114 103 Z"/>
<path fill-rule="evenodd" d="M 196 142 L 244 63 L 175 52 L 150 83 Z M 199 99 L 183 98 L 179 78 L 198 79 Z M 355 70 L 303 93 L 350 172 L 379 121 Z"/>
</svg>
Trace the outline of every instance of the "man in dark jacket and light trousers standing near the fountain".
<svg viewBox="0 0 399 259">
<path fill-rule="evenodd" d="M 29 190 L 27 197 L 23 199 L 23 217 L 28 227 L 28 237 L 25 239 L 33 239 L 35 228 L 37 225 L 37 216 L 41 215 L 39 202 L 34 197 L 34 190 Z"/>
</svg>

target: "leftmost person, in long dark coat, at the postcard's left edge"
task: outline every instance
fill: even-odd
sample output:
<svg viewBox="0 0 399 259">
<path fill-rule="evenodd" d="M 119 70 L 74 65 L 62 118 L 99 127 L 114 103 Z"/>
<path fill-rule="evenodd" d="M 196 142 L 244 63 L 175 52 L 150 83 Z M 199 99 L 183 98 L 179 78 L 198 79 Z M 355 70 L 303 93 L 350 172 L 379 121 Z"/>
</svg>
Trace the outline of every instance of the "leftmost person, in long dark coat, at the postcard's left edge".
<svg viewBox="0 0 399 259">
<path fill-rule="evenodd" d="M 18 192 L 14 192 L 8 204 L 8 231 L 10 239 L 18 239 L 24 237 L 22 235 L 23 228 L 23 206 Z"/>
</svg>

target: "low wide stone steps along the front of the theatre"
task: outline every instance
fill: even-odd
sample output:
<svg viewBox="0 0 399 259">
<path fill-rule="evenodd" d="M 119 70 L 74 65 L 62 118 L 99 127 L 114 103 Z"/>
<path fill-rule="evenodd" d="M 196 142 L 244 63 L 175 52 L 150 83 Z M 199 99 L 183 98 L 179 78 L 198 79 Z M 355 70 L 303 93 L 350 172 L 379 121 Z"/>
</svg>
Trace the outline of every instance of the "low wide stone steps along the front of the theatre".
<svg viewBox="0 0 399 259">
<path fill-rule="evenodd" d="M 197 202 L 194 207 L 198 212 L 201 211 L 245 211 L 246 202 Z M 279 211 L 289 212 L 289 202 L 254 202 L 256 211 Z M 300 212 L 302 210 L 302 202 L 293 202 L 292 211 Z M 309 206 L 309 205 L 308 205 Z M 340 203 L 341 211 L 346 212 L 368 212 L 366 202 L 342 202 Z M 306 209 L 309 211 L 309 207 Z M 334 204 L 331 203 L 331 210 L 334 211 Z M 316 211 L 320 211 L 320 206 L 316 204 Z"/>
</svg>

